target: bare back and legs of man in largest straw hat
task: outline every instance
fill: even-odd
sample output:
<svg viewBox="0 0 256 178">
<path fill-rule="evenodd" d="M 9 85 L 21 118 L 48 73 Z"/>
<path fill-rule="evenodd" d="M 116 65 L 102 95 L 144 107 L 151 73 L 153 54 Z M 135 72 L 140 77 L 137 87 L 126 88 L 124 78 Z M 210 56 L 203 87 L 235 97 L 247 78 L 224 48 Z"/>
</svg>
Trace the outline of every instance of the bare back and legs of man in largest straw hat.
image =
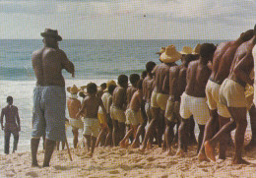
<svg viewBox="0 0 256 178">
<path fill-rule="evenodd" d="M 175 63 L 161 63 L 160 65 L 157 65 L 154 70 L 152 71 L 152 74 L 155 76 L 155 88 L 154 90 L 156 92 L 160 92 L 163 94 L 168 94 L 169 92 L 169 85 L 168 85 L 168 81 L 169 81 L 169 67 L 171 66 L 175 66 Z M 142 144 L 142 148 L 141 150 L 145 150 L 147 147 L 147 143 L 148 140 L 150 138 L 150 136 L 152 135 L 153 131 L 155 130 L 155 127 L 157 125 L 157 138 L 158 138 L 158 144 L 159 147 L 161 147 L 161 136 L 163 133 L 163 126 L 160 126 L 160 119 L 163 118 L 163 114 L 164 112 L 160 112 L 160 108 L 155 108 L 152 107 L 152 111 L 153 111 L 153 119 L 150 122 L 148 131 L 146 133 L 146 136 L 144 138 L 143 144 Z M 160 117 L 161 114 L 161 117 Z"/>
</svg>

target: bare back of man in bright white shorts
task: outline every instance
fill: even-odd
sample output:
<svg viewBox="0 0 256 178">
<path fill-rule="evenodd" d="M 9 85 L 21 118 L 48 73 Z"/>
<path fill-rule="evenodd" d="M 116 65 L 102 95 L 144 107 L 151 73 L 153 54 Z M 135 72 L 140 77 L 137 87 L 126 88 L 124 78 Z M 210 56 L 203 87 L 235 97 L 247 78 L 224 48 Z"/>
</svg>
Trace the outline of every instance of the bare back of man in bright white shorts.
<svg viewBox="0 0 256 178">
<path fill-rule="evenodd" d="M 185 92 L 191 96 L 205 97 L 205 89 L 211 72 L 208 65 L 200 63 L 200 60 L 190 62 L 187 69 Z"/>
</svg>

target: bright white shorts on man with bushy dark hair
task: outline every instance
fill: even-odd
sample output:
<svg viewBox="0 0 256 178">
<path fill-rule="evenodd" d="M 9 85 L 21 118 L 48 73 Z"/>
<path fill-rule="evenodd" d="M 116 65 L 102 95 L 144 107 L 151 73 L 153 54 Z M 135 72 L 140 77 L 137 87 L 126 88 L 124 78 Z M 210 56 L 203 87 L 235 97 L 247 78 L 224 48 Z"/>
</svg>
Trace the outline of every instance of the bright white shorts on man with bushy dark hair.
<svg viewBox="0 0 256 178">
<path fill-rule="evenodd" d="M 197 124 L 206 125 L 210 119 L 206 97 L 195 97 L 183 92 L 181 95 L 180 116 L 183 119 L 189 119 L 191 115 L 193 115 Z"/>
</svg>

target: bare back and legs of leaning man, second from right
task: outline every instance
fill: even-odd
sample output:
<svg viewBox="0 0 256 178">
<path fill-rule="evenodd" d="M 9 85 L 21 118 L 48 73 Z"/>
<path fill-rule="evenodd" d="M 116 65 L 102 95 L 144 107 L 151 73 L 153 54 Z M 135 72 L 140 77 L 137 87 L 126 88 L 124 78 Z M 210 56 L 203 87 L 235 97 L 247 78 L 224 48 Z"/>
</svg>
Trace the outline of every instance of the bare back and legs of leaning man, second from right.
<svg viewBox="0 0 256 178">
<path fill-rule="evenodd" d="M 224 82 L 224 79 L 226 79 L 229 75 L 229 70 L 234 58 L 234 54 L 237 50 L 237 48 L 244 42 L 244 38 L 247 36 L 252 36 L 251 31 L 247 31 L 244 33 L 241 33 L 239 38 L 237 38 L 234 41 L 228 41 L 221 43 L 214 55 L 213 59 L 213 68 L 212 68 L 212 74 L 210 79 L 217 83 L 217 84 L 222 84 Z M 220 122 L 220 127 L 223 127 L 225 123 L 230 121 L 230 118 L 225 118 L 221 115 L 218 114 L 217 109 L 211 110 L 210 109 L 210 115 L 211 118 L 209 122 L 206 125 L 206 130 L 205 130 L 205 136 L 204 136 L 204 143 L 208 140 L 210 140 L 215 133 L 218 132 L 218 130 L 213 129 L 213 128 L 218 128 L 218 119 Z M 225 159 L 225 149 L 227 148 L 227 140 L 230 140 L 230 135 L 224 135 L 224 137 L 221 138 L 221 144 L 220 144 L 220 158 Z M 205 147 L 202 145 L 200 149 L 200 153 L 198 155 L 199 160 L 207 160 L 207 157 L 205 155 Z"/>
</svg>

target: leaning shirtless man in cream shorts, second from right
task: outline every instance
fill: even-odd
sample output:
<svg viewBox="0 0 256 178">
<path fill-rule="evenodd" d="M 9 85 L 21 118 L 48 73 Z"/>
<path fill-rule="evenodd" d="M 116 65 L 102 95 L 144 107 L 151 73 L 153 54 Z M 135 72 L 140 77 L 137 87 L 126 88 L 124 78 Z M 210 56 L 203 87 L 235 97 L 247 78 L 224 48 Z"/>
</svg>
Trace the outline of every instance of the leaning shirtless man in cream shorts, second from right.
<svg viewBox="0 0 256 178">
<path fill-rule="evenodd" d="M 245 41 L 249 40 L 253 35 L 253 30 L 247 30 L 240 34 L 240 36 L 234 41 L 227 41 L 221 43 L 215 51 L 213 59 L 213 70 L 210 79 L 207 83 L 206 94 L 208 99 L 208 106 L 210 108 L 211 118 L 205 128 L 204 141 L 210 140 L 215 133 L 218 132 L 218 125 L 224 126 L 230 118 L 229 113 L 219 101 L 219 91 L 224 79 L 228 77 L 229 69 L 233 61 L 233 57 L 236 49 Z M 218 122 L 219 119 L 219 122 Z M 219 157 L 225 158 L 225 149 L 228 143 L 228 135 L 222 137 L 220 142 L 220 155 Z M 198 154 L 199 160 L 207 160 L 205 155 L 205 147 L 202 145 Z"/>
</svg>

